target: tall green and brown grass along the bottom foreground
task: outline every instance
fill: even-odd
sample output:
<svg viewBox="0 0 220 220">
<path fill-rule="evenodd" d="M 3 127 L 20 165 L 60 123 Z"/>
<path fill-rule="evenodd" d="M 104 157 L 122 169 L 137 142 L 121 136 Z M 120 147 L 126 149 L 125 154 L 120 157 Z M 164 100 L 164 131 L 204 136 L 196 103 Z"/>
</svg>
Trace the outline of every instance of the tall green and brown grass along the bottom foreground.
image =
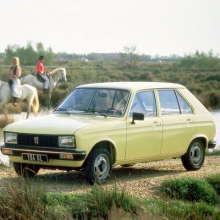
<svg viewBox="0 0 220 220">
<path fill-rule="evenodd" d="M 200 181 L 206 180 L 190 180 Z M 220 182 L 220 175 L 210 176 L 207 181 L 210 186 L 215 185 Z M 183 179 L 181 183 L 185 184 Z M 172 180 L 169 184 L 172 186 Z M 160 199 L 139 199 L 125 189 L 118 190 L 116 184 L 108 190 L 94 185 L 90 191 L 78 195 L 53 193 L 46 191 L 42 179 L 7 178 L 0 185 L 0 219 L 220 219 L 219 209 L 204 201 L 171 199 L 163 193 Z"/>
</svg>

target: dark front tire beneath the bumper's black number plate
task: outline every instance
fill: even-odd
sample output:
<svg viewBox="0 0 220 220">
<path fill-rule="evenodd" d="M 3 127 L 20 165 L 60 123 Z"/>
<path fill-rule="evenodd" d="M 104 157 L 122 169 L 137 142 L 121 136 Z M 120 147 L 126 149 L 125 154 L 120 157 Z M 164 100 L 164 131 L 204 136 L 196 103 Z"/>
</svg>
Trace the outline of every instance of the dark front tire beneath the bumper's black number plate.
<svg viewBox="0 0 220 220">
<path fill-rule="evenodd" d="M 34 177 L 40 170 L 40 167 L 34 164 L 13 163 L 13 167 L 18 176 Z"/>
</svg>

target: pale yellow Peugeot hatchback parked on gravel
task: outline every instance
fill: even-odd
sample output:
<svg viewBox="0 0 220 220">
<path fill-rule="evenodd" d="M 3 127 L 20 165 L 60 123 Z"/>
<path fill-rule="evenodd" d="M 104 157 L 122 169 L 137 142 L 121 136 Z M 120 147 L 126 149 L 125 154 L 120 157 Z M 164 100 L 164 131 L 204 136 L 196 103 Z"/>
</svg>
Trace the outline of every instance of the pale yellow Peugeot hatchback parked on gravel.
<svg viewBox="0 0 220 220">
<path fill-rule="evenodd" d="M 83 170 L 94 184 L 113 166 L 174 157 L 198 170 L 214 137 L 212 115 L 184 86 L 108 82 L 78 86 L 51 115 L 6 126 L 1 152 L 18 175 Z"/>
</svg>

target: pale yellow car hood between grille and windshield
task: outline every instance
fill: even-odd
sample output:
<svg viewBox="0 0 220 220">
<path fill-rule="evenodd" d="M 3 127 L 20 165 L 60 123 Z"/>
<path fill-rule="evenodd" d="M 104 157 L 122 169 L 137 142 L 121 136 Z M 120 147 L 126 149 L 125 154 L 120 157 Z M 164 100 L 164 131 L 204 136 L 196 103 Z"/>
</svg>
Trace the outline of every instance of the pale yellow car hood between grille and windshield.
<svg viewBox="0 0 220 220">
<path fill-rule="evenodd" d="M 12 123 L 4 131 L 35 134 L 73 134 L 94 123 L 112 120 L 103 116 L 49 115 Z"/>
</svg>

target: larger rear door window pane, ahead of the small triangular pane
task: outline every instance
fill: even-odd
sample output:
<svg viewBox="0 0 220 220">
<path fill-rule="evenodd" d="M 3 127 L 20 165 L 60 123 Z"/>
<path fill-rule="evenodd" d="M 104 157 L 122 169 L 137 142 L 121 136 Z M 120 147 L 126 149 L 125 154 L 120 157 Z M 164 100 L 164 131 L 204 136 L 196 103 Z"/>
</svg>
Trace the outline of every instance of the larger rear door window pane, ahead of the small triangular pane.
<svg viewBox="0 0 220 220">
<path fill-rule="evenodd" d="M 174 90 L 159 90 L 161 115 L 180 114 L 178 100 Z"/>
</svg>

